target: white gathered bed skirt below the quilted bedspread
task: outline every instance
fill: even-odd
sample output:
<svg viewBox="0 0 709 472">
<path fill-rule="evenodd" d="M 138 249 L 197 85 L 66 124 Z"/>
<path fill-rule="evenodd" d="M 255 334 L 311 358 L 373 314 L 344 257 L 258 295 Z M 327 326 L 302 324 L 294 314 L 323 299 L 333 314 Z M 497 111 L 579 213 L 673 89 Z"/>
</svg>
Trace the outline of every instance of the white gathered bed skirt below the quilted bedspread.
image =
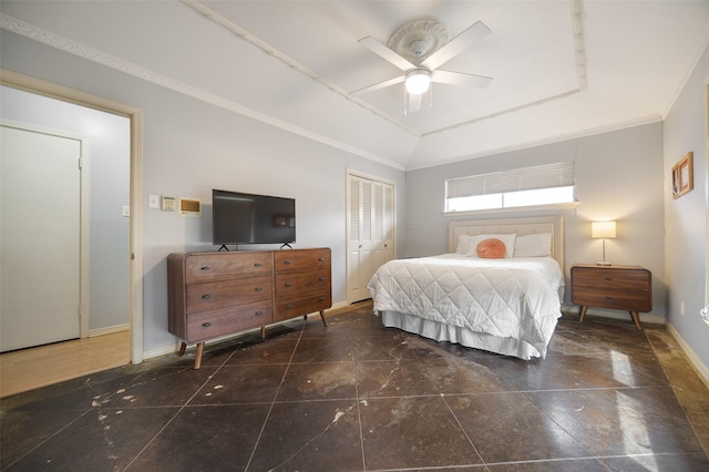
<svg viewBox="0 0 709 472">
<path fill-rule="evenodd" d="M 474 332 L 465 328 L 449 326 L 398 311 L 380 311 L 379 314 L 382 322 L 388 328 L 399 328 L 439 342 L 454 342 L 469 348 L 514 356 L 525 360 L 544 357 L 534 346 L 517 339 L 499 338 L 484 332 Z"/>
</svg>

